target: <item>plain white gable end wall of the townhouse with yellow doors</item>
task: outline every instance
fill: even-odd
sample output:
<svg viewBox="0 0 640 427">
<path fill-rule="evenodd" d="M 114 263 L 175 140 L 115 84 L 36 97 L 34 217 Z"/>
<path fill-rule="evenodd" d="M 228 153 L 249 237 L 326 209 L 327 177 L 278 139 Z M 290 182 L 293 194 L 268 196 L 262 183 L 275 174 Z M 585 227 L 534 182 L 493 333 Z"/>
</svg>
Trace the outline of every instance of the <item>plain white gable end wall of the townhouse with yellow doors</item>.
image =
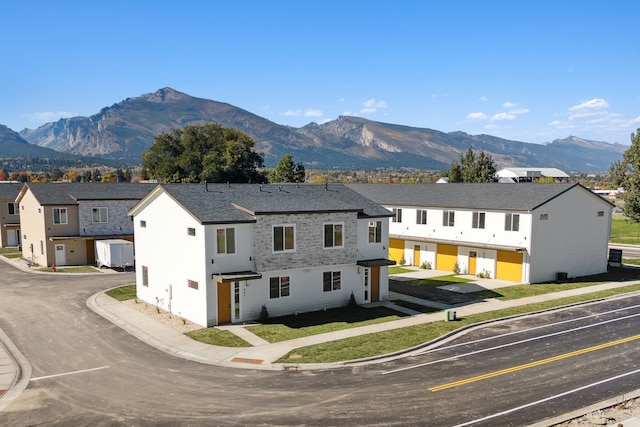
<svg viewBox="0 0 640 427">
<path fill-rule="evenodd" d="M 530 282 L 555 280 L 558 272 L 577 277 L 607 271 L 610 224 L 611 206 L 581 187 L 536 209 Z"/>
</svg>

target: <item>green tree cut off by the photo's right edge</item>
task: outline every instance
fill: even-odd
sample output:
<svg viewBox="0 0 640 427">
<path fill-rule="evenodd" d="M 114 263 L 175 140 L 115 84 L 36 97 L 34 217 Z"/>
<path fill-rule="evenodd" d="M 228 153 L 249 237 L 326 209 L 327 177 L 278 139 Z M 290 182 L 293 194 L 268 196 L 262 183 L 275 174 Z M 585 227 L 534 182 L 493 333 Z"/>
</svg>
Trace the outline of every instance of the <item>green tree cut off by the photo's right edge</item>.
<svg viewBox="0 0 640 427">
<path fill-rule="evenodd" d="M 640 128 L 631 133 L 631 146 L 609 167 L 613 182 L 624 188 L 624 215 L 640 223 Z"/>
</svg>

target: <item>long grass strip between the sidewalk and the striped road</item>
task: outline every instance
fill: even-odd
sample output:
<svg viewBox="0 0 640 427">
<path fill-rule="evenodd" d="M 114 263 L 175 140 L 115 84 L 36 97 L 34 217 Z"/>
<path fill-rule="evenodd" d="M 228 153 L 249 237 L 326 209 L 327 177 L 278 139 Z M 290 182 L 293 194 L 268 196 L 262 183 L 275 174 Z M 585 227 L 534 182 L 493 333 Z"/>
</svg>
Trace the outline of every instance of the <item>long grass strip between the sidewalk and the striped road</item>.
<svg viewBox="0 0 640 427">
<path fill-rule="evenodd" d="M 332 363 L 379 356 L 405 350 L 431 341 L 461 327 L 487 320 L 546 310 L 563 305 L 606 298 L 638 290 L 640 290 L 640 284 L 635 284 L 617 289 L 608 289 L 542 303 L 527 304 L 519 307 L 511 307 L 503 310 L 475 314 L 462 318 L 456 322 L 437 321 L 375 334 L 361 335 L 353 338 L 299 348 L 278 359 L 276 362 Z"/>
</svg>

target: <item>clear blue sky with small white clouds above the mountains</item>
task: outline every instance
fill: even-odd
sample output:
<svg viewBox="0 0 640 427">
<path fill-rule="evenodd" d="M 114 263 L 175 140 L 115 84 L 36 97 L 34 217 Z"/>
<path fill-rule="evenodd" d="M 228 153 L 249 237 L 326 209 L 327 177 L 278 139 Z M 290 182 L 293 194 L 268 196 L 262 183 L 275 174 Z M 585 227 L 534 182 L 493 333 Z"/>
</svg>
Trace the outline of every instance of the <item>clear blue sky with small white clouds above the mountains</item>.
<svg viewBox="0 0 640 427">
<path fill-rule="evenodd" d="M 638 16 L 635 0 L 6 2 L 0 124 L 168 86 L 295 127 L 354 115 L 628 145 Z"/>
</svg>

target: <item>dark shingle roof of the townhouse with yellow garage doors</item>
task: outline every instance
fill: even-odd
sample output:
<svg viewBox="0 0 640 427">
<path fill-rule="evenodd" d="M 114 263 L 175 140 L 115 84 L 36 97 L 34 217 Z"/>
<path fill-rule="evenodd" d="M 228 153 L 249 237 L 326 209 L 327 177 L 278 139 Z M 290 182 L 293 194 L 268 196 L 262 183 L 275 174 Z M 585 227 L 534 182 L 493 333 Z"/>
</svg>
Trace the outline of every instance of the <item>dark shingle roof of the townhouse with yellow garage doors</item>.
<svg viewBox="0 0 640 427">
<path fill-rule="evenodd" d="M 579 189 L 580 184 L 347 184 L 382 205 L 434 208 L 531 211 L 561 194 Z"/>
</svg>

